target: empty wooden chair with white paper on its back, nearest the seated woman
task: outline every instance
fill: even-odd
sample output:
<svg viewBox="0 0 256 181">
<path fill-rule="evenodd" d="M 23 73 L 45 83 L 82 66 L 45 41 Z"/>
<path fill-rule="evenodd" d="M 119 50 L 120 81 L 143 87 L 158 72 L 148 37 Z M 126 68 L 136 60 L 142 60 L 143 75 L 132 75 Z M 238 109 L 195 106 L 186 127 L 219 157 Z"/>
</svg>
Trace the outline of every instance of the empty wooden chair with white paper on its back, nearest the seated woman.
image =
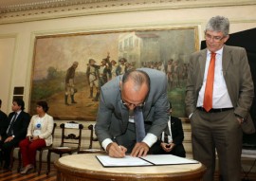
<svg viewBox="0 0 256 181">
<path fill-rule="evenodd" d="M 82 139 L 82 129 L 83 125 L 77 122 L 71 121 L 62 123 L 60 125 L 62 129 L 62 141 L 59 147 L 51 147 L 48 149 L 47 154 L 47 171 L 46 174 L 50 172 L 50 157 L 51 153 L 59 154 L 60 157 L 63 154 L 74 154 L 78 153 L 81 148 L 81 139 Z M 68 130 L 72 131 L 72 133 L 68 134 Z M 74 130 L 79 130 L 78 136 L 74 134 Z"/>
</svg>

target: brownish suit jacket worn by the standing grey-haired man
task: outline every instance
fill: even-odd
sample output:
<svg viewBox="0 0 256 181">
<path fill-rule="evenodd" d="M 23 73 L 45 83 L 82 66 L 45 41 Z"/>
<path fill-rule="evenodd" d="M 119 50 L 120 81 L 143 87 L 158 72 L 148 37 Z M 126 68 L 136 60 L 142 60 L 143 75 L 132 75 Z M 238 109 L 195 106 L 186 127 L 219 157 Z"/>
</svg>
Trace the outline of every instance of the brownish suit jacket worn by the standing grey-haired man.
<svg viewBox="0 0 256 181">
<path fill-rule="evenodd" d="M 195 52 L 191 56 L 185 99 L 188 116 L 196 109 L 198 93 L 203 83 L 206 59 L 207 48 Z M 243 118 L 250 118 L 249 109 L 254 97 L 254 87 L 246 49 L 224 45 L 222 66 L 229 97 L 234 107 L 234 114 Z M 252 121 L 251 118 L 248 121 Z"/>
</svg>

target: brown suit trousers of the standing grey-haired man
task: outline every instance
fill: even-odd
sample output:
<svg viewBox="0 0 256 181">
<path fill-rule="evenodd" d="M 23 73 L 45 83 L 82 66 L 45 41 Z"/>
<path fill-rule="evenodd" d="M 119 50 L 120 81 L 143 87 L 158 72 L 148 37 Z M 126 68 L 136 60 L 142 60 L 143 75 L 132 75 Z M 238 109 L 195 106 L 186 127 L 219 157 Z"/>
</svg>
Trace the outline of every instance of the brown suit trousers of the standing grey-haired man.
<svg viewBox="0 0 256 181">
<path fill-rule="evenodd" d="M 204 181 L 213 181 L 215 156 L 224 181 L 241 180 L 241 126 L 233 110 L 207 113 L 196 110 L 191 118 L 193 159 L 207 167 Z"/>
</svg>

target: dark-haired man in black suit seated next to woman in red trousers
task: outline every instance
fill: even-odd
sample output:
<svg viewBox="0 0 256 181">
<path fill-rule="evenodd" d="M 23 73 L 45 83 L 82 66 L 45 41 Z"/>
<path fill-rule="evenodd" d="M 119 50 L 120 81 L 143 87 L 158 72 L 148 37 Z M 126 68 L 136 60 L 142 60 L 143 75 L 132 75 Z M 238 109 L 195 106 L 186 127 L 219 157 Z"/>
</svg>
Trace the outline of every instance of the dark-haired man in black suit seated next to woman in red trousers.
<svg viewBox="0 0 256 181">
<path fill-rule="evenodd" d="M 9 114 L 6 124 L 6 133 L 3 136 L 2 150 L 5 159 L 4 169 L 9 169 L 9 154 L 11 149 L 18 146 L 19 142 L 27 135 L 27 126 L 30 116 L 24 112 L 25 104 L 23 100 L 17 99 L 12 101 L 12 111 Z"/>
</svg>

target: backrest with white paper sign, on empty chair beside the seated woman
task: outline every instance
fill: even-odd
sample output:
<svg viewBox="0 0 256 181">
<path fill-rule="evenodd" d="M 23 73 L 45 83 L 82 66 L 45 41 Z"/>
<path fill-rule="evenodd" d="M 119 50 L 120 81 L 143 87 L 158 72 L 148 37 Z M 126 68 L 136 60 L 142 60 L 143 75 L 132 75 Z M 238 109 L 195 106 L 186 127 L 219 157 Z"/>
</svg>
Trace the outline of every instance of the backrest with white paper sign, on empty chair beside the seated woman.
<svg viewBox="0 0 256 181">
<path fill-rule="evenodd" d="M 60 127 L 62 129 L 61 147 L 75 145 L 75 147 L 80 149 L 83 125 L 75 121 L 70 121 L 62 123 Z M 68 132 L 68 130 L 72 130 L 72 133 L 70 131 Z M 74 130 L 78 130 L 78 132 L 75 133 Z"/>
</svg>

